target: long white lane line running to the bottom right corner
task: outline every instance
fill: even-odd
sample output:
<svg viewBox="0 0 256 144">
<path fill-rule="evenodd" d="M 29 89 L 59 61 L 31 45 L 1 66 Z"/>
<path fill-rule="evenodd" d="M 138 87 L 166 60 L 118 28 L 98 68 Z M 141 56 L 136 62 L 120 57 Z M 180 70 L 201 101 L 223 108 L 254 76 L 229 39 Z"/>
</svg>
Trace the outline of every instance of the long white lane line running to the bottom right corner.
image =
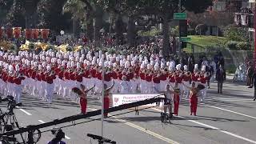
<svg viewBox="0 0 256 144">
<path fill-rule="evenodd" d="M 161 111 L 161 110 L 158 110 L 158 109 L 156 109 L 156 108 L 152 108 L 152 109 L 153 109 L 153 110 L 157 110 L 157 111 Z M 184 117 L 178 116 L 178 118 L 184 118 Z M 242 137 L 242 136 L 240 136 L 240 135 L 237 135 L 237 134 L 230 133 L 229 131 L 221 130 L 221 129 L 217 128 L 217 127 L 210 126 L 210 125 L 204 124 L 204 123 L 202 123 L 202 122 L 197 122 L 197 121 L 194 121 L 194 120 L 187 120 L 187 121 L 189 121 L 189 122 L 194 122 L 194 123 L 196 123 L 196 124 L 198 124 L 198 125 L 205 126 L 205 127 L 210 128 L 210 129 L 213 129 L 213 130 L 218 130 L 218 131 L 220 131 L 220 132 L 222 132 L 222 133 L 229 134 L 229 135 L 231 135 L 231 136 L 233 136 L 233 137 L 235 137 L 235 138 L 239 138 L 239 139 L 242 139 L 242 140 L 244 140 L 244 141 L 247 141 L 247 142 L 251 142 L 251 143 L 255 143 L 255 144 L 256 144 L 256 141 L 254 141 L 254 140 L 251 140 L 251 139 L 249 139 L 249 138 L 244 138 L 244 137 Z"/>
</svg>

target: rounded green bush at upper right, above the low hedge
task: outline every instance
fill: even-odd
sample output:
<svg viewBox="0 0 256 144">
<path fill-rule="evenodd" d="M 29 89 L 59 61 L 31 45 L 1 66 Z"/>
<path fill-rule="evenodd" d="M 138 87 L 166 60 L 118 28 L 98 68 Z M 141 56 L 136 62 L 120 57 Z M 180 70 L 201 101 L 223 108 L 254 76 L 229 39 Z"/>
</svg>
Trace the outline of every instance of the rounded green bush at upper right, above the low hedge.
<svg viewBox="0 0 256 144">
<path fill-rule="evenodd" d="M 249 42 L 249 34 L 246 28 L 226 26 L 222 28 L 224 37 L 230 41 Z"/>
</svg>

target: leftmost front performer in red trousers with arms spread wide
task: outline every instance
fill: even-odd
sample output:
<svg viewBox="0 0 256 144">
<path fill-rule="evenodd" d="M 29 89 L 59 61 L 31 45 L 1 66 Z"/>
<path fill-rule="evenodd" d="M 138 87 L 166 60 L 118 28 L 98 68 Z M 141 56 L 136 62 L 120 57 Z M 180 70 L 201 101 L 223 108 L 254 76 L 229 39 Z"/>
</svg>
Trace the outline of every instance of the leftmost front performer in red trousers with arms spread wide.
<svg viewBox="0 0 256 144">
<path fill-rule="evenodd" d="M 95 85 L 91 87 L 90 89 L 86 90 L 86 86 L 81 85 L 81 89 L 73 88 L 72 91 L 80 97 L 80 107 L 81 107 L 81 113 L 86 114 L 86 108 L 87 108 L 87 93 L 90 90 L 93 90 Z"/>
</svg>

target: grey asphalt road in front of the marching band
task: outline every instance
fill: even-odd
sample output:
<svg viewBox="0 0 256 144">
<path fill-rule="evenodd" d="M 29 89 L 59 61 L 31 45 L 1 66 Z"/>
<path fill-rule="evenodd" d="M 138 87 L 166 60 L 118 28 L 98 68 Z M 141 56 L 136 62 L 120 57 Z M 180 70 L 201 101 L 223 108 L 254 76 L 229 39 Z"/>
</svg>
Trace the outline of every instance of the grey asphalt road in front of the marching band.
<svg viewBox="0 0 256 144">
<path fill-rule="evenodd" d="M 244 144 L 256 143 L 256 102 L 252 101 L 254 89 L 246 86 L 226 82 L 223 94 L 217 94 L 216 83 L 211 84 L 206 102 L 200 103 L 198 116 L 190 116 L 189 100 L 182 99 L 179 107 L 179 116 L 170 123 L 160 122 L 159 107 L 154 107 L 135 112 L 122 114 L 131 110 L 122 110 L 111 115 L 121 114 L 116 117 L 106 118 L 104 122 L 104 137 L 110 138 L 121 144 Z M 38 98 L 24 94 L 23 106 L 15 110 L 20 126 L 36 125 L 50 122 L 56 118 L 79 114 L 79 106 L 69 99 L 55 96 L 54 102 L 48 104 Z M 89 110 L 100 108 L 101 102 L 91 96 Z M 0 103 L 5 110 L 6 103 Z M 86 134 L 101 134 L 101 121 L 93 117 L 69 122 L 60 126 L 74 124 L 62 130 L 66 133 L 63 139 L 68 144 L 90 144 Z M 78 122 L 86 122 L 80 125 Z M 59 127 L 59 126 L 58 126 Z M 48 127 L 43 130 L 50 130 Z M 53 135 L 50 132 L 42 134 L 39 144 L 45 144 Z M 91 140 L 91 143 L 97 143 Z"/>
</svg>

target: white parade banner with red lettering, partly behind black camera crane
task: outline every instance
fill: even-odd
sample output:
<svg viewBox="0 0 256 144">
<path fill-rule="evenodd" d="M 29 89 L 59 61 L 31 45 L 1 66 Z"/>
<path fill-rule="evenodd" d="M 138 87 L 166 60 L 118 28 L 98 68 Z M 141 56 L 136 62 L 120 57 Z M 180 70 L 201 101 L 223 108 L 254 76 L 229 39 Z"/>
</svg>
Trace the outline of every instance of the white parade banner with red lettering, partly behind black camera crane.
<svg viewBox="0 0 256 144">
<path fill-rule="evenodd" d="M 161 94 L 112 94 L 112 106 L 114 107 L 131 102 L 143 101 L 149 98 L 154 98 L 156 96 L 164 98 L 164 96 Z M 147 106 L 155 105 L 155 103 L 152 103 Z"/>
</svg>

